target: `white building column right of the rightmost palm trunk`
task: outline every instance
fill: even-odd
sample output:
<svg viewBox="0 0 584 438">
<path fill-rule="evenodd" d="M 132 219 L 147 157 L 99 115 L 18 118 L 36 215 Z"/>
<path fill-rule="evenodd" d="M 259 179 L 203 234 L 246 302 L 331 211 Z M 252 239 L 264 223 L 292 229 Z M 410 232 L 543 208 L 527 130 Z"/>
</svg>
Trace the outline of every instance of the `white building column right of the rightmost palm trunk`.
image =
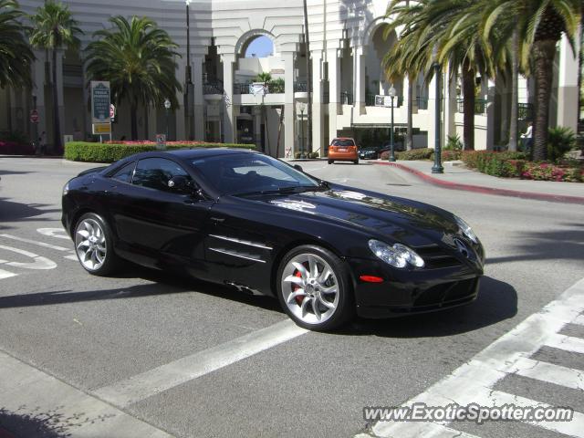
<svg viewBox="0 0 584 438">
<path fill-rule="evenodd" d="M 576 47 L 580 47 L 579 36 L 576 37 Z M 571 128 L 578 132 L 579 89 L 578 89 L 579 59 L 574 57 L 568 38 L 562 36 L 559 50 L 558 72 L 558 126 Z"/>
</svg>

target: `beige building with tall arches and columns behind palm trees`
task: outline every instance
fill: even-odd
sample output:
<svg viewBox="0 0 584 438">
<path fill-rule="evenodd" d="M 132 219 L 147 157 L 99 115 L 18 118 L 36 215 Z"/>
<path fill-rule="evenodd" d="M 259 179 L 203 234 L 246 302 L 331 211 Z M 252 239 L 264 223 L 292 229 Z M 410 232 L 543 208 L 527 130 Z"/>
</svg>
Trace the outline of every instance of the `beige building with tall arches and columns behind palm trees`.
<svg viewBox="0 0 584 438">
<path fill-rule="evenodd" d="M 21 8 L 34 13 L 41 0 L 20 0 Z M 272 155 L 285 156 L 306 144 L 308 124 L 307 50 L 303 36 L 302 0 L 271 3 L 259 0 L 190 1 L 187 45 L 187 5 L 184 0 L 68 0 L 67 3 L 85 35 L 82 48 L 92 33 L 109 26 L 114 15 L 150 16 L 180 45 L 177 78 L 185 84 L 187 66 L 193 85 L 186 96 L 177 96 L 180 108 L 169 115 L 172 139 L 205 141 L 252 141 Z M 434 84 L 406 79 L 390 84 L 381 71 L 381 58 L 399 38 L 399 32 L 383 38 L 387 0 L 308 0 L 310 58 L 312 66 L 312 150 L 326 150 L 328 142 L 341 135 L 360 142 L 387 136 L 391 109 L 375 106 L 375 97 L 387 95 L 391 85 L 397 90 L 394 118 L 401 132 L 407 121 L 407 89 L 413 88 L 412 105 L 415 147 L 433 147 Z M 259 36 L 273 43 L 266 58 L 245 57 L 249 44 Z M 187 53 L 189 52 L 189 53 Z M 47 131 L 51 139 L 50 57 L 36 51 L 33 78 L 35 89 L 0 90 L 0 130 L 21 130 L 32 134 L 29 111 L 35 105 L 40 121 L 37 131 Z M 579 121 L 579 62 L 567 41 L 558 44 L 557 82 L 552 99 L 552 124 L 577 130 Z M 272 87 L 266 95 L 254 93 L 250 84 L 257 73 L 269 72 L 282 78 L 282 87 Z M 502 81 L 480 80 L 476 105 L 476 149 L 493 149 L 504 144 L 510 105 L 509 89 Z M 520 121 L 531 112 L 533 87 L 521 80 Z M 91 135 L 89 91 L 78 53 L 60 52 L 57 57 L 57 90 L 61 132 L 76 140 L 96 139 Z M 463 115 L 454 80 L 442 90 L 443 141 L 447 135 L 462 137 Z M 113 138 L 130 138 L 129 108 L 118 108 Z M 301 117 L 304 115 L 304 117 Z M 142 108 L 138 124 L 141 139 L 155 138 L 166 130 L 164 108 Z M 304 135 L 305 139 L 301 139 Z M 381 137 L 380 137 L 381 136 Z M 398 137 L 399 138 L 399 137 Z M 278 142 L 279 139 L 279 142 Z M 430 141 L 428 141 L 430 139 Z"/>
</svg>

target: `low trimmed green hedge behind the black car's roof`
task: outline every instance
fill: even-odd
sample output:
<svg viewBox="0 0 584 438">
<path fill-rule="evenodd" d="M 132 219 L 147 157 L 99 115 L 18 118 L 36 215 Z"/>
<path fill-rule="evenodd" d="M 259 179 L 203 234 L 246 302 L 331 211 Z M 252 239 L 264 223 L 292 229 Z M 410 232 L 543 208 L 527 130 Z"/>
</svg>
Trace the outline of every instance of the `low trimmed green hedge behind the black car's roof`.
<svg viewBox="0 0 584 438">
<path fill-rule="evenodd" d="M 176 149 L 198 148 L 240 148 L 255 149 L 253 144 L 238 143 L 173 143 L 167 146 L 168 151 Z M 64 157 L 71 162 L 117 162 L 122 158 L 139 152 L 156 151 L 155 144 L 116 144 L 91 143 L 86 141 L 70 141 L 65 145 Z"/>
</svg>

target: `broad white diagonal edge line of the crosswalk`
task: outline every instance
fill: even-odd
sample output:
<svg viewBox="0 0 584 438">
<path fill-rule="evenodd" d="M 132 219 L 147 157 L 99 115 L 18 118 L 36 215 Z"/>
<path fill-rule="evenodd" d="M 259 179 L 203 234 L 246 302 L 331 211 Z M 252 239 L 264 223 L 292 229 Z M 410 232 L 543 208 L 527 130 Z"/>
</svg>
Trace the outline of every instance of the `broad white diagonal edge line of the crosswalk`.
<svg viewBox="0 0 584 438">
<path fill-rule="evenodd" d="M 506 403 L 515 403 L 525 406 L 547 406 L 540 401 L 528 400 L 514 394 L 494 391 L 497 381 L 517 370 L 518 366 L 526 365 L 525 360 L 533 355 L 537 349 L 549 343 L 558 342 L 558 331 L 568 323 L 582 323 L 584 317 L 579 314 L 584 310 L 584 278 L 574 286 L 569 287 L 558 299 L 542 308 L 537 314 L 525 319 L 516 328 L 495 340 L 490 346 L 474 356 L 450 375 L 438 381 L 427 391 L 422 392 L 411 400 L 403 403 L 411 406 L 416 402 L 425 402 L 431 406 L 447 406 L 451 403 L 468 405 L 469 403 L 485 404 L 487 406 L 503 406 Z M 541 363 L 541 362 L 539 362 Z M 538 365 L 540 371 L 543 365 Z M 525 367 L 519 367 L 528 373 Z M 558 369 L 556 369 L 558 370 Z M 566 371 L 569 369 L 564 369 Z M 546 372 L 549 369 L 545 369 Z M 563 383 L 568 383 L 569 370 L 562 377 Z M 542 374 L 537 374 L 537 379 Z M 535 375 L 529 376 L 531 378 Z M 544 376 L 548 377 L 548 376 Z M 573 374 L 572 374 L 572 377 Z M 570 382 L 581 384 L 581 378 Z M 584 414 L 574 412 L 571 422 L 530 422 L 538 427 L 565 433 L 573 437 L 584 437 Z M 407 438 L 420 435 L 423 424 L 421 422 L 377 422 L 372 431 L 379 437 Z M 445 426 L 447 422 L 442 423 Z M 446 431 L 447 432 L 447 431 Z M 440 435 L 437 435 L 440 436 Z M 448 436 L 448 435 L 446 435 Z"/>
</svg>

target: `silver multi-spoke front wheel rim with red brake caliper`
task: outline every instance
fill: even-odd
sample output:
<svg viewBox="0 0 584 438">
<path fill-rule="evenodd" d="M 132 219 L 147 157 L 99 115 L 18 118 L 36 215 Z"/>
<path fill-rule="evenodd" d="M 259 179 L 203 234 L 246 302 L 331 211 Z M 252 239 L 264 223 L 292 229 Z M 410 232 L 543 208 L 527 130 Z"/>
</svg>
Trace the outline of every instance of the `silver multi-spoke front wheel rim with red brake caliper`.
<svg viewBox="0 0 584 438">
<path fill-rule="evenodd" d="M 282 272 L 282 294 L 292 314 L 307 324 L 321 324 L 339 306 L 339 281 L 320 256 L 299 254 Z"/>
</svg>

